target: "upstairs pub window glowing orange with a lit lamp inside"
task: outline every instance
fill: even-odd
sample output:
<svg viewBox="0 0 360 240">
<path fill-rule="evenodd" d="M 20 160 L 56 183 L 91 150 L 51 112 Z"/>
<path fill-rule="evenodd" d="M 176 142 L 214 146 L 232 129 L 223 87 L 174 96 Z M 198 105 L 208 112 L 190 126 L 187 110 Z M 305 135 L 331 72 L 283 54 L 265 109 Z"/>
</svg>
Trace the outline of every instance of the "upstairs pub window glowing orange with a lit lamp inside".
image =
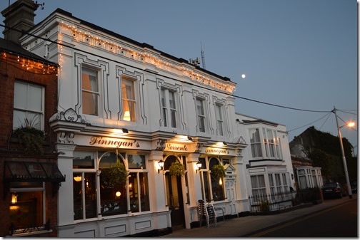
<svg viewBox="0 0 360 240">
<path fill-rule="evenodd" d="M 135 122 L 135 93 L 134 93 L 134 80 L 129 78 L 121 78 L 121 94 L 122 94 L 122 107 L 123 107 L 123 120 Z"/>
</svg>

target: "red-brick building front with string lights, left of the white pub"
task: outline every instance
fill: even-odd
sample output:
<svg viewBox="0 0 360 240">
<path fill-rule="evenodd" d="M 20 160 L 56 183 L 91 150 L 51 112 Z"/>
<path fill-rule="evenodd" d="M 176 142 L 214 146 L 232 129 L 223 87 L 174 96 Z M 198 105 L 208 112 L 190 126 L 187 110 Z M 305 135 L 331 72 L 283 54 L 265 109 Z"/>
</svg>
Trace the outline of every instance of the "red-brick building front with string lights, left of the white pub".
<svg viewBox="0 0 360 240">
<path fill-rule="evenodd" d="M 25 9 L 34 11 L 36 6 Z M 22 16 L 21 11 L 17 14 Z M 58 65 L 9 41 L 5 31 L 4 36 L 0 38 L 0 236 L 57 236 L 58 189 L 65 177 L 57 168 L 56 134 L 49 118 L 56 112 Z"/>
</svg>

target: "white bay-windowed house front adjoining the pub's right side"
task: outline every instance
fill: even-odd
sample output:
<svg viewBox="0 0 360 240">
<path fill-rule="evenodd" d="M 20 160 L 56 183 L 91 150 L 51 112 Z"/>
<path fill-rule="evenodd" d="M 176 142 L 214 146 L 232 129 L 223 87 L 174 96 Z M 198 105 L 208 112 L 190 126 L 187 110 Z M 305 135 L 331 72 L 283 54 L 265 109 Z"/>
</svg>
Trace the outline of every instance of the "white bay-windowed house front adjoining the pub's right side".
<svg viewBox="0 0 360 240">
<path fill-rule="evenodd" d="M 243 152 L 244 177 L 250 210 L 254 211 L 259 204 L 258 199 L 276 202 L 277 195 L 294 190 L 289 141 L 284 125 L 239 113 L 236 114 L 236 122 L 240 130 L 238 135 L 249 141 Z M 281 206 L 291 207 L 291 198 L 289 194 L 281 199 Z"/>
</svg>

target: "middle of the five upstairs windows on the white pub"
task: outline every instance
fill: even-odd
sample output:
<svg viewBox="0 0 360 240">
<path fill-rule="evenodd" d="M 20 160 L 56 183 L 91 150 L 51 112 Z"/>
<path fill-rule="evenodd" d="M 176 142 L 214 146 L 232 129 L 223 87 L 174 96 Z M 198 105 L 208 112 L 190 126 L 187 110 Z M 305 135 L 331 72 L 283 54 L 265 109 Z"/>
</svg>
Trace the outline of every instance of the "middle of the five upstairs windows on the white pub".
<svg viewBox="0 0 360 240">
<path fill-rule="evenodd" d="M 176 103 L 173 91 L 161 89 L 161 108 L 164 127 L 176 127 Z"/>
</svg>

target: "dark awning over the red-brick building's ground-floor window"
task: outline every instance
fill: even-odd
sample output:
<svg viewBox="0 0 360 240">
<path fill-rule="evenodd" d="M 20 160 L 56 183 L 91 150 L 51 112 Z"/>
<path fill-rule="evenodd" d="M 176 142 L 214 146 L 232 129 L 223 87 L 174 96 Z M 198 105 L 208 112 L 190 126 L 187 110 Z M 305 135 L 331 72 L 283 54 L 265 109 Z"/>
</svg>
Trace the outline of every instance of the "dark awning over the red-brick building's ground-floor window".
<svg viewBox="0 0 360 240">
<path fill-rule="evenodd" d="M 5 161 L 4 182 L 65 182 L 52 162 Z"/>
</svg>

